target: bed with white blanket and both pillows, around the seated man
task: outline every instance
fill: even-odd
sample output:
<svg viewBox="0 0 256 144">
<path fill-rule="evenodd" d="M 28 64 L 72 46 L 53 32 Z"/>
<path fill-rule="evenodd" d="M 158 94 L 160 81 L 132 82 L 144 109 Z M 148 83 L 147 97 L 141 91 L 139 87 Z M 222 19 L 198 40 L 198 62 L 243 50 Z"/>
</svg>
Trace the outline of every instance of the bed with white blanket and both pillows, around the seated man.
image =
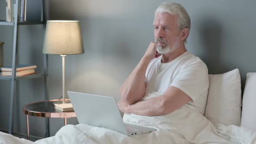
<svg viewBox="0 0 256 144">
<path fill-rule="evenodd" d="M 209 75 L 210 86 L 205 115 L 184 105 L 171 114 L 155 117 L 125 114 L 127 123 L 155 128 L 150 133 L 126 136 L 105 128 L 85 124 L 66 125 L 55 136 L 36 144 L 256 144 L 256 126 L 250 112 L 256 73 L 248 73 L 243 93 L 239 69 L 220 75 Z M 254 98 L 255 99 L 255 98 Z M 245 112 L 244 112 L 245 111 Z M 249 111 L 249 113 L 247 112 Z M 247 112 L 247 113 L 246 113 Z M 242 116 L 241 116 L 242 115 Z M 0 144 L 33 144 L 0 132 Z"/>
</svg>

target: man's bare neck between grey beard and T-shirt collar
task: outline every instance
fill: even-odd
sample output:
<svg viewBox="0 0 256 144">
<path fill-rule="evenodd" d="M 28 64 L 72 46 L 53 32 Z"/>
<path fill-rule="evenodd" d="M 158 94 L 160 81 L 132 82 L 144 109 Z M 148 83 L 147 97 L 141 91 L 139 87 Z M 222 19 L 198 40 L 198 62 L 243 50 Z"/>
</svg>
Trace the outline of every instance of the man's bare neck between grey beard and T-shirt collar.
<svg viewBox="0 0 256 144">
<path fill-rule="evenodd" d="M 181 56 L 182 54 L 184 54 L 184 52 L 187 52 L 187 50 L 185 49 L 184 44 L 181 44 L 179 47 L 177 47 L 177 49 L 175 49 L 173 52 L 170 53 L 166 53 L 166 54 L 162 54 L 162 58 L 161 58 L 161 62 L 162 63 L 167 63 L 167 62 L 171 62 L 174 59 L 176 59 L 177 57 Z"/>
</svg>

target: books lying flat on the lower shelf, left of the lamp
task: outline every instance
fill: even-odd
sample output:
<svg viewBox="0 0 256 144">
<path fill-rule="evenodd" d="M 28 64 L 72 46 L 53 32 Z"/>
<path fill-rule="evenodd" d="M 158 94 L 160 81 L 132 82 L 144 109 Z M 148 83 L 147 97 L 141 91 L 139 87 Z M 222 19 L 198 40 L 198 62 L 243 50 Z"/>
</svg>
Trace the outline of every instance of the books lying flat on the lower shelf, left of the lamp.
<svg viewBox="0 0 256 144">
<path fill-rule="evenodd" d="M 35 73 L 36 65 L 18 65 L 16 67 L 16 76 L 30 75 Z M 12 76 L 12 67 L 1 67 L 2 76 Z"/>
</svg>

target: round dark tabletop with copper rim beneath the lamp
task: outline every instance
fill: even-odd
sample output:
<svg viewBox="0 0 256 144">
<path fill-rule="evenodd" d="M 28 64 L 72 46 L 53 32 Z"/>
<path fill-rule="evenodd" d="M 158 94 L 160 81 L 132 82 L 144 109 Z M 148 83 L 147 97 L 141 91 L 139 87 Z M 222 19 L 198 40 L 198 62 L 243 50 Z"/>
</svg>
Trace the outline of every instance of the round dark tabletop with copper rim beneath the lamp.
<svg viewBox="0 0 256 144">
<path fill-rule="evenodd" d="M 58 111 L 54 108 L 53 102 L 62 101 L 62 99 L 54 99 L 50 101 L 39 101 L 25 105 L 23 113 L 26 115 L 44 117 L 44 118 L 72 118 L 76 117 L 75 111 Z M 69 101 L 69 99 L 66 99 Z"/>
</svg>

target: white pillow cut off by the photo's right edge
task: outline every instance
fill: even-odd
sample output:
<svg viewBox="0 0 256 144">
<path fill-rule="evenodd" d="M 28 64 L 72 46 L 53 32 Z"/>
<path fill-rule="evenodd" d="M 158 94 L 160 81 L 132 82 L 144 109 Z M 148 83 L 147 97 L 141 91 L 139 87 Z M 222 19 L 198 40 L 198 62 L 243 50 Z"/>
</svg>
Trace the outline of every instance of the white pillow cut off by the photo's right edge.
<svg viewBox="0 0 256 144">
<path fill-rule="evenodd" d="M 256 131 L 256 72 L 246 75 L 243 92 L 241 127 Z"/>
</svg>

